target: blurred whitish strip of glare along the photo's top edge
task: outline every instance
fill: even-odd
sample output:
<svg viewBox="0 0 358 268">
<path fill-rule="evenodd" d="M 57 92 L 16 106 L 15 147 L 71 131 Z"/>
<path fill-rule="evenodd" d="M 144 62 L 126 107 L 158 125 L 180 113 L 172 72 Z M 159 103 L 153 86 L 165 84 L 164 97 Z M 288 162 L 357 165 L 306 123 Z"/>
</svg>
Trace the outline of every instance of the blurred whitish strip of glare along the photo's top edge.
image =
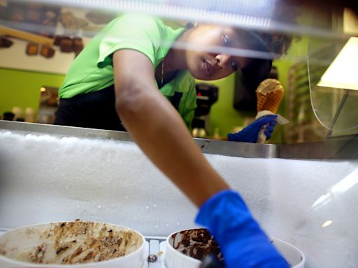
<svg viewBox="0 0 358 268">
<path fill-rule="evenodd" d="M 43 2 L 44 0 L 34 0 Z M 236 25 L 241 27 L 255 27 L 269 29 L 271 17 L 276 6 L 284 3 L 278 0 L 256 1 L 117 1 L 117 0 L 47 0 L 61 6 L 80 6 L 81 8 L 101 8 L 101 10 L 118 10 L 120 12 L 144 12 L 169 17 L 171 19 L 214 22 Z M 259 16 L 257 16 L 259 14 Z"/>
</svg>

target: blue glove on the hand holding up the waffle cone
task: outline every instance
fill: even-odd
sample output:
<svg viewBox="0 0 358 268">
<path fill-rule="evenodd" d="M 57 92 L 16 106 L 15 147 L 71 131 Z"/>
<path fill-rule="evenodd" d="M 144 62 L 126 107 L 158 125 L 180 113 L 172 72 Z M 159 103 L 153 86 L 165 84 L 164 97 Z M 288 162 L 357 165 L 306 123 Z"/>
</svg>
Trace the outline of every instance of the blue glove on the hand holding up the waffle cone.
<svg viewBox="0 0 358 268">
<path fill-rule="evenodd" d="M 259 134 L 261 127 L 267 124 L 264 133 L 267 137 L 266 140 L 268 140 L 275 130 L 275 126 L 277 124 L 277 121 L 275 121 L 276 118 L 277 115 L 275 114 L 260 117 L 259 119 L 253 121 L 250 125 L 243 128 L 242 131 L 238 131 L 234 134 L 229 133 L 227 138 L 231 142 L 256 142 L 257 135 Z"/>
</svg>

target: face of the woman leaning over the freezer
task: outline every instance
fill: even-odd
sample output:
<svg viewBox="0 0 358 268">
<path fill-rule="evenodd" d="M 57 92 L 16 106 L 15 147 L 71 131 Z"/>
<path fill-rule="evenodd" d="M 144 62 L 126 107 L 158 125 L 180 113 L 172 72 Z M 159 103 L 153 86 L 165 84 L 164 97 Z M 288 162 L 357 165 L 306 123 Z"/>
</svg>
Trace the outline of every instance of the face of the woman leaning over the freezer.
<svg viewBox="0 0 358 268">
<path fill-rule="evenodd" d="M 225 47 L 240 47 L 231 27 L 201 24 L 191 29 L 186 41 L 187 68 L 196 79 L 217 80 L 245 66 L 245 58 L 233 57 L 225 51 Z"/>
</svg>

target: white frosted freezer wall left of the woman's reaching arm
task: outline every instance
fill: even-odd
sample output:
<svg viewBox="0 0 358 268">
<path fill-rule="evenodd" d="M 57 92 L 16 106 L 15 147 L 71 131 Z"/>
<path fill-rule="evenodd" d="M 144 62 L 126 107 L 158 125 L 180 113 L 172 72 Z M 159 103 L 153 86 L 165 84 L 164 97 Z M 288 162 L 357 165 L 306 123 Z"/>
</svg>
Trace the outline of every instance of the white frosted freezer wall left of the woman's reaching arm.
<svg viewBox="0 0 358 268">
<path fill-rule="evenodd" d="M 179 219 L 194 227 L 196 208 L 134 142 L 0 131 L 1 156 L 2 228 L 73 218 L 156 236 L 173 232 Z M 173 208 L 178 218 L 158 220 Z"/>
</svg>

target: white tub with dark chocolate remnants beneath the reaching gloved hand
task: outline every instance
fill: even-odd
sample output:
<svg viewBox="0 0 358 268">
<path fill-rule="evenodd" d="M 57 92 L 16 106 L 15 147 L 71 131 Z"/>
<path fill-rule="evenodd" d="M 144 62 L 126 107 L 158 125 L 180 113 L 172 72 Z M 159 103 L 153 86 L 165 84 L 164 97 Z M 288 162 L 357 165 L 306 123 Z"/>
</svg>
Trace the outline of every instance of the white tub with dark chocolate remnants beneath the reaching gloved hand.
<svg viewBox="0 0 358 268">
<path fill-rule="evenodd" d="M 291 267 L 304 267 L 305 256 L 298 248 L 280 239 L 270 239 Z M 166 239 L 166 268 L 199 268 L 208 255 L 223 260 L 220 247 L 206 229 L 181 230 Z"/>
</svg>

